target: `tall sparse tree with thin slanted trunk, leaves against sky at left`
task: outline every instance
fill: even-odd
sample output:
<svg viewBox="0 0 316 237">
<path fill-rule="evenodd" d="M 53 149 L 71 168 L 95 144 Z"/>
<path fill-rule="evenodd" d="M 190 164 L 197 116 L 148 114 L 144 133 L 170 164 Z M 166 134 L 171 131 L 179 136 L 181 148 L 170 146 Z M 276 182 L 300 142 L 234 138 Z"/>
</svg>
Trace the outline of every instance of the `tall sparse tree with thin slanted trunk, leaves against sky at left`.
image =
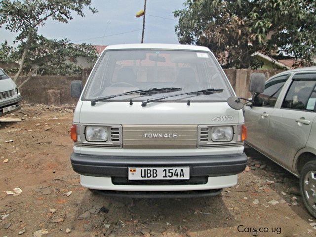
<svg viewBox="0 0 316 237">
<path fill-rule="evenodd" d="M 40 40 L 39 27 L 49 18 L 68 23 L 73 19 L 72 12 L 84 17 L 85 7 L 95 13 L 97 10 L 90 5 L 91 0 L 2 0 L 0 27 L 4 25 L 6 30 L 17 33 L 14 43 L 20 42 L 22 47 L 19 70 L 13 80 L 23 71 L 30 48 Z"/>
</svg>

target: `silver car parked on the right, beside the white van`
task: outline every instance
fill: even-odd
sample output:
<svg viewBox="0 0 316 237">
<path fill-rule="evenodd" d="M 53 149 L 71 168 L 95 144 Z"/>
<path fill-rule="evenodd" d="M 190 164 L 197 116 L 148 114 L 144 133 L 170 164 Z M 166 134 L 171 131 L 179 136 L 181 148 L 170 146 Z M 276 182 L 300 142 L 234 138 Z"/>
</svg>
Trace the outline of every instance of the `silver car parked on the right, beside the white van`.
<svg viewBox="0 0 316 237">
<path fill-rule="evenodd" d="M 316 67 L 275 75 L 245 106 L 247 144 L 300 178 L 316 217 Z"/>
</svg>

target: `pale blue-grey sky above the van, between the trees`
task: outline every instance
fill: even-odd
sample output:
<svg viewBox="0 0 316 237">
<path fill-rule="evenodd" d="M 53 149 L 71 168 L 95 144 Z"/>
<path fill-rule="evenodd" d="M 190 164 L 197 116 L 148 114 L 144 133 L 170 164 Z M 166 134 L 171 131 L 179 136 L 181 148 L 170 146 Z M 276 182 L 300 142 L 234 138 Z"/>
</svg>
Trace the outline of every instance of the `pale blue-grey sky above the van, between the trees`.
<svg viewBox="0 0 316 237">
<path fill-rule="evenodd" d="M 178 43 L 174 31 L 177 21 L 172 12 L 182 9 L 183 2 L 147 0 L 144 43 Z M 135 14 L 144 8 L 144 0 L 92 0 L 92 6 L 98 9 L 97 13 L 86 8 L 85 17 L 73 14 L 69 24 L 48 20 L 39 33 L 48 39 L 67 38 L 74 43 L 95 45 L 141 42 L 143 17 L 136 18 Z M 12 45 L 15 36 L 0 28 L 0 43 L 7 40 Z"/>
</svg>

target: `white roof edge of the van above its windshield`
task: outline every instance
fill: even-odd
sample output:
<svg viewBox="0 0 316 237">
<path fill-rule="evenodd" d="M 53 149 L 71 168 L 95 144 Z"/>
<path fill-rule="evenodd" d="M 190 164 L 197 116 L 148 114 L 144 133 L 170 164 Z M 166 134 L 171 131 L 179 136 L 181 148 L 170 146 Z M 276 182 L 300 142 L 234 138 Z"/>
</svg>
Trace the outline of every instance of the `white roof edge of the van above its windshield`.
<svg viewBox="0 0 316 237">
<path fill-rule="evenodd" d="M 105 50 L 111 49 L 180 49 L 193 51 L 209 51 L 207 47 L 186 44 L 165 44 L 165 43 L 131 43 L 109 45 Z"/>
</svg>

